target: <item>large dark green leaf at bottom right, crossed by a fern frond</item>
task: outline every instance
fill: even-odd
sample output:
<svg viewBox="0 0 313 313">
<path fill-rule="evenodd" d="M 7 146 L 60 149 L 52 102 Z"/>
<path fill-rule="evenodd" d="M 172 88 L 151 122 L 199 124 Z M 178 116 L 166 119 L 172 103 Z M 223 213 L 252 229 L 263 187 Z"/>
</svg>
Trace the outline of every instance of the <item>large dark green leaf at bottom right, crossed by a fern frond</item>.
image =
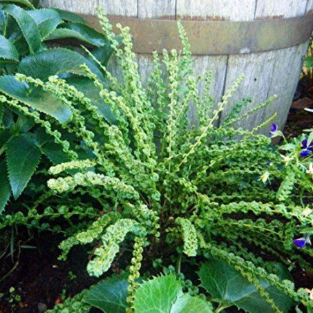
<svg viewBox="0 0 313 313">
<path fill-rule="evenodd" d="M 276 266 L 276 268 L 282 280 L 290 279 L 290 275 L 286 274 L 283 267 Z M 229 303 L 229 306 L 236 305 L 250 313 L 275 312 L 256 290 L 254 284 L 249 283 L 240 272 L 222 260 L 210 260 L 208 263 L 203 263 L 198 274 L 202 287 L 221 303 Z M 260 281 L 260 285 L 265 288 L 282 312 L 289 311 L 292 305 L 291 298 L 265 281 Z"/>
</svg>

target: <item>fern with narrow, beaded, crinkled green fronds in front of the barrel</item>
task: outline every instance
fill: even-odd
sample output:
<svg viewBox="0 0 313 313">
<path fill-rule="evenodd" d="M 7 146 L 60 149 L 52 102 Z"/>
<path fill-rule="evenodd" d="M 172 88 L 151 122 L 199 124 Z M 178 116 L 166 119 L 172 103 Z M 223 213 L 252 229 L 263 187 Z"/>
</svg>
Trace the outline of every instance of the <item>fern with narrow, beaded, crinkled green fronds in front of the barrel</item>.
<svg viewBox="0 0 313 313">
<path fill-rule="evenodd" d="M 175 265 L 181 272 L 182 266 L 196 256 L 220 260 L 225 267 L 236 269 L 265 299 L 267 312 L 286 310 L 274 301 L 277 292 L 312 307 L 307 292 L 294 290 L 291 281 L 281 280 L 276 265 L 263 258 L 265 252 L 287 267 L 296 263 L 312 269 L 311 250 L 293 243 L 301 229 L 312 227 L 312 214 L 307 214 L 297 198 L 282 202 L 277 196 L 283 159 L 270 145 L 269 137 L 256 134 L 274 117 L 246 131 L 231 125 L 250 112 L 241 117 L 233 112 L 216 128 L 242 77 L 218 104 L 208 93 L 200 96 L 199 78 L 194 76 L 189 44 L 180 23 L 182 51 L 164 50 L 162 60 L 155 53 L 149 86 L 143 88 L 129 29 L 118 26 L 123 43 L 119 48 L 119 37 L 102 12 L 99 19 L 120 64 L 122 79 L 113 77 L 88 50 L 108 83 L 101 82 L 86 65 L 81 70 L 93 80 L 99 96 L 115 115 L 114 123 L 99 114 L 88 95 L 57 76 L 48 82 L 21 74 L 16 79 L 59 99 L 71 113 L 64 124 L 30 110 L 23 99 L 0 97 L 0 102 L 35 120 L 68 156 L 68 162 L 49 170 L 57 176 L 48 180 L 51 191 L 64 198 L 81 195 L 83 204 L 88 198 L 88 205 L 99 211 L 97 220 L 90 220 L 84 229 L 61 243 L 61 259 L 74 245 L 100 241 L 87 267 L 89 274 L 99 277 L 132 245 L 127 269 L 129 312 L 135 310 L 142 267 L 146 269 L 155 259 L 161 259 L 165 266 Z M 207 73 L 207 90 L 210 81 Z M 190 103 L 197 108 L 198 127 L 189 124 Z M 240 111 L 238 106 L 236 111 Z M 73 145 L 57 130 L 60 126 L 79 138 L 88 158 L 79 158 Z M 268 285 L 276 292 L 269 292 Z"/>
</svg>

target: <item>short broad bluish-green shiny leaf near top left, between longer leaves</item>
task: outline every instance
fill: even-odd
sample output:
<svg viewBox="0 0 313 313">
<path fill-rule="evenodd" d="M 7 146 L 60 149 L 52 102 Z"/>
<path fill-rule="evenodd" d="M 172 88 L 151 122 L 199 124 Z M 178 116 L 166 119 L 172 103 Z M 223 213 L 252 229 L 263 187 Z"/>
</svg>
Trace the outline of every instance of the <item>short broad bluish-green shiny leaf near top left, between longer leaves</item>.
<svg viewBox="0 0 313 313">
<path fill-rule="evenodd" d="M 28 13 L 37 24 L 41 39 L 45 39 L 50 34 L 50 32 L 53 32 L 53 30 L 55 30 L 55 28 L 63 22 L 56 10 L 30 10 Z"/>
</svg>

